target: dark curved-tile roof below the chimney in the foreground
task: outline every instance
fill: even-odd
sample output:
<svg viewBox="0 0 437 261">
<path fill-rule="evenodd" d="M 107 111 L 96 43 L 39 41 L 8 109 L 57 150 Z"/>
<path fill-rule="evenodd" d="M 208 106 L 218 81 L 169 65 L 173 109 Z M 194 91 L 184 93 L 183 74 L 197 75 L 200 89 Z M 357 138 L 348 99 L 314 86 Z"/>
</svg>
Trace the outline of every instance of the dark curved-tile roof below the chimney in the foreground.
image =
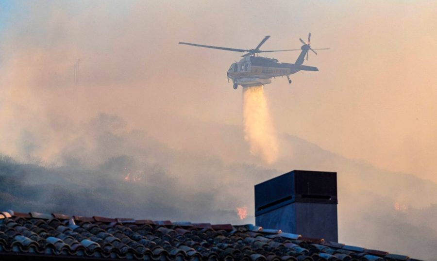
<svg viewBox="0 0 437 261">
<path fill-rule="evenodd" d="M 253 225 L 0 212 L 0 260 L 409 260 Z"/>
</svg>

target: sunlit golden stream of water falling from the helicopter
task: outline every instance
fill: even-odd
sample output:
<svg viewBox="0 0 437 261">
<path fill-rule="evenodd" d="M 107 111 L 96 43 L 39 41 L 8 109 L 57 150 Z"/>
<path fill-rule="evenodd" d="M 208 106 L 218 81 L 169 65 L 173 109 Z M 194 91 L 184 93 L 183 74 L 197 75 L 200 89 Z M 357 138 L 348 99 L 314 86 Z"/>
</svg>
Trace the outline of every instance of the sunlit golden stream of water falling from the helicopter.
<svg viewBox="0 0 437 261">
<path fill-rule="evenodd" d="M 252 155 L 274 163 L 278 159 L 278 141 L 263 86 L 243 88 L 243 117 L 244 138 L 249 142 Z"/>
</svg>

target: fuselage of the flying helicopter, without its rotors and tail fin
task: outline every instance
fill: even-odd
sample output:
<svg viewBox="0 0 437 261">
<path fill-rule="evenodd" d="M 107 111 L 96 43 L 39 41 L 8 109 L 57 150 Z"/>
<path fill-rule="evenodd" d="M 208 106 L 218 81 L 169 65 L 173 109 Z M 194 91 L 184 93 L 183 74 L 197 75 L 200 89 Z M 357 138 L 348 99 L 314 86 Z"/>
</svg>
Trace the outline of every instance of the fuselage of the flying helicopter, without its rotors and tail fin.
<svg viewBox="0 0 437 261">
<path fill-rule="evenodd" d="M 234 63 L 228 70 L 227 76 L 234 84 L 243 87 L 264 85 L 271 82 L 270 78 L 287 76 L 300 70 L 318 71 L 316 67 L 279 63 L 278 60 L 267 57 L 247 56 L 238 63 Z"/>
</svg>

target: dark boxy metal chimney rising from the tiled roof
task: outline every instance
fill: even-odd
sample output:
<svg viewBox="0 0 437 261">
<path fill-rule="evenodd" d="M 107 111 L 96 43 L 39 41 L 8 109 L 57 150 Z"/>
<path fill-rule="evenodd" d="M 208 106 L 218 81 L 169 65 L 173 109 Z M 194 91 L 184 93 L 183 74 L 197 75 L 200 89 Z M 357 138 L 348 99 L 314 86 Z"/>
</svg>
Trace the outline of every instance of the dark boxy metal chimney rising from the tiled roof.
<svg viewBox="0 0 437 261">
<path fill-rule="evenodd" d="M 255 224 L 338 242 L 337 173 L 293 170 L 255 185 Z"/>
</svg>

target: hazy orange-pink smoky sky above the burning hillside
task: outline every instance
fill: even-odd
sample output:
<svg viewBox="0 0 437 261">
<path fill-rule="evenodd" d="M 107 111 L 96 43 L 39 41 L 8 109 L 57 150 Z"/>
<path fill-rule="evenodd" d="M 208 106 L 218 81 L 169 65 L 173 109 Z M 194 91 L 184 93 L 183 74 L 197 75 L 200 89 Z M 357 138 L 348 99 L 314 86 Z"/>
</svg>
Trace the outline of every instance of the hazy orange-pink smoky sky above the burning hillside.
<svg viewBox="0 0 437 261">
<path fill-rule="evenodd" d="M 99 140 L 105 149 L 94 153 L 101 133 L 86 126 L 105 113 L 122 119 L 116 133 L 144 131 L 193 155 L 186 165 L 179 159 L 183 173 L 199 155 L 214 164 L 311 168 L 294 164 L 307 156 L 303 148 L 281 144 L 283 135 L 294 135 L 357 162 L 437 182 L 436 13 L 437 2 L 425 0 L 0 0 L 0 153 L 62 166 L 66 155 L 83 152 L 84 162 L 98 165 L 118 143 Z M 265 86 L 280 139 L 279 161 L 263 163 L 235 132 L 244 128 L 243 97 L 226 71 L 240 53 L 178 42 L 251 49 L 270 35 L 263 49 L 298 49 L 309 32 L 313 48 L 331 49 L 304 62 L 319 72 Z M 274 58 L 293 63 L 298 55 Z M 162 158 L 151 161 L 172 159 Z M 198 164 L 206 168 L 203 160 Z M 329 166 L 323 170 L 337 170 Z M 200 174 L 191 172 L 179 178 L 197 184 Z"/>
</svg>

